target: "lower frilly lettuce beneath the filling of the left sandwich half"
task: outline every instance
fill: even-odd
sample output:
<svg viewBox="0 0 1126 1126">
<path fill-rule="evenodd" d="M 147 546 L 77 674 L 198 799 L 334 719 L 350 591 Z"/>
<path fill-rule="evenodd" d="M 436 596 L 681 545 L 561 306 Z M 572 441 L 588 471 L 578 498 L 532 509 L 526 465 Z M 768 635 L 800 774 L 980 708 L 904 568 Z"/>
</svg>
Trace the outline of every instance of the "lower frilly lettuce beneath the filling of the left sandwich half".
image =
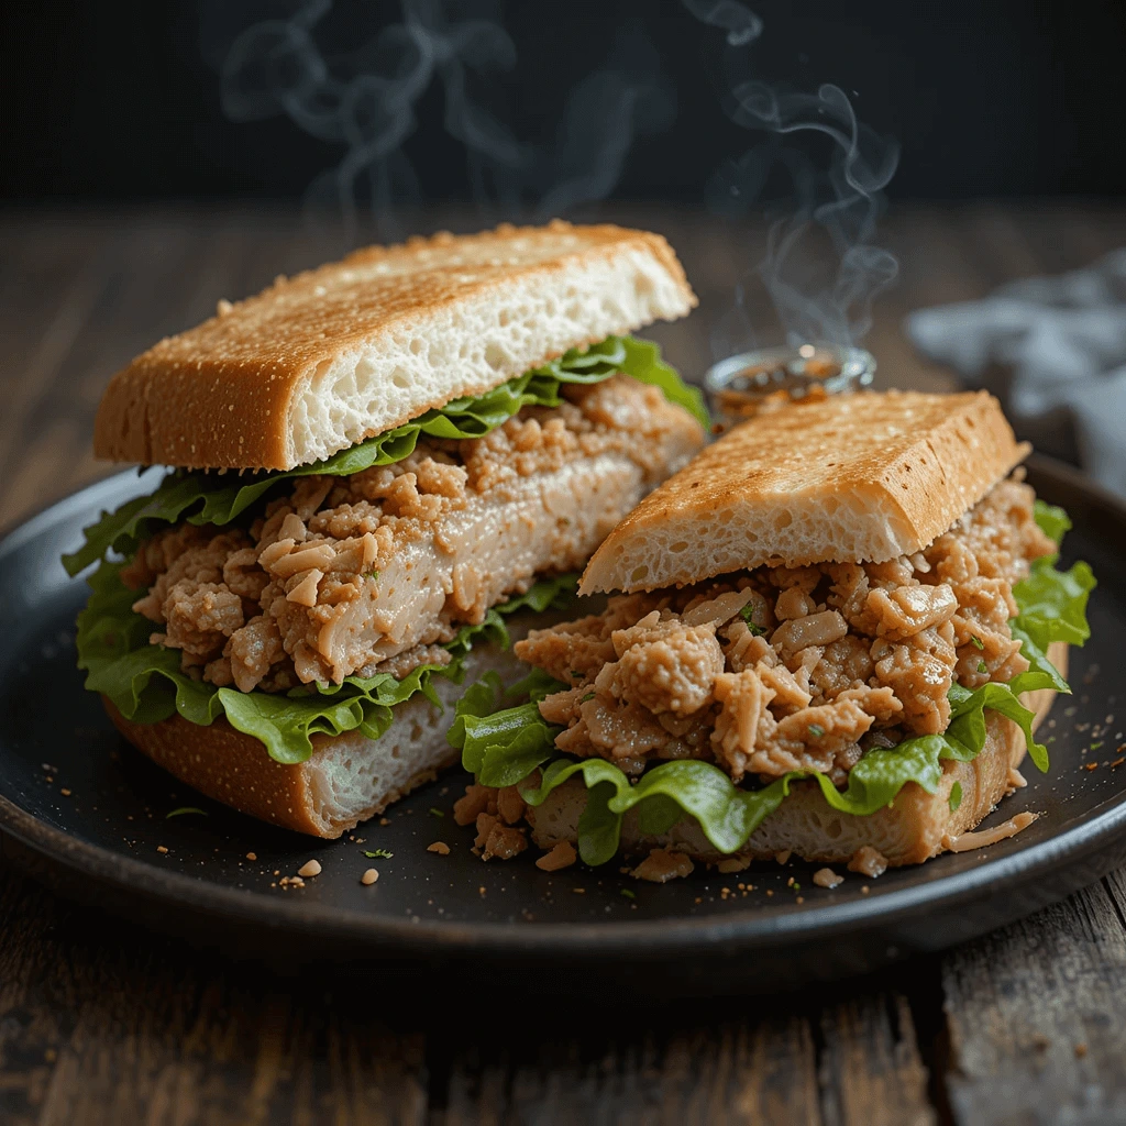
<svg viewBox="0 0 1126 1126">
<path fill-rule="evenodd" d="M 140 591 L 126 589 L 122 563 L 102 563 L 89 578 L 90 600 L 78 618 L 79 668 L 86 687 L 109 697 L 136 723 L 158 723 L 179 713 L 206 726 L 220 716 L 239 731 L 266 744 L 278 762 L 303 762 L 313 752 L 312 735 L 339 735 L 360 730 L 378 739 L 392 722 L 397 704 L 422 692 L 437 703 L 436 676 L 461 682 L 465 655 L 481 642 L 508 647 L 504 617 L 520 609 L 542 611 L 570 600 L 578 575 L 564 574 L 536 582 L 527 593 L 492 607 L 480 625 L 464 626 L 446 645 L 453 660 L 426 664 L 402 680 L 390 673 L 346 677 L 340 685 L 304 685 L 289 692 L 240 692 L 234 688 L 193 680 L 180 671 L 180 654 L 150 645 L 153 624 L 134 614 Z"/>
</svg>

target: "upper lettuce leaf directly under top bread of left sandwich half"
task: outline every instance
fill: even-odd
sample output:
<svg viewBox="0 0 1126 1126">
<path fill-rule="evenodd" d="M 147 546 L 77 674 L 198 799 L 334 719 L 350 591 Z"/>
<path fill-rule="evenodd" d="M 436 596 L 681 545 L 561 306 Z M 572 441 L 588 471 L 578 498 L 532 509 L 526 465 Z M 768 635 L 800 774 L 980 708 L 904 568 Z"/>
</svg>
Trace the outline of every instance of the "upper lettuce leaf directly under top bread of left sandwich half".
<svg viewBox="0 0 1126 1126">
<path fill-rule="evenodd" d="M 632 337 L 609 337 L 584 351 L 572 349 L 543 367 L 525 372 L 483 395 L 455 399 L 445 406 L 342 449 L 322 462 L 278 473 L 172 472 L 155 492 L 136 497 L 84 529 L 86 542 L 63 556 L 63 566 L 75 575 L 110 551 L 129 556 L 162 524 L 224 525 L 245 513 L 283 482 L 311 474 L 349 476 L 376 465 L 401 462 L 414 450 L 421 435 L 431 438 L 481 438 L 507 422 L 524 406 L 558 406 L 564 383 L 600 383 L 624 372 L 653 384 L 665 397 L 694 414 L 707 428 L 704 400 L 696 387 L 661 359 L 660 348 Z"/>
</svg>

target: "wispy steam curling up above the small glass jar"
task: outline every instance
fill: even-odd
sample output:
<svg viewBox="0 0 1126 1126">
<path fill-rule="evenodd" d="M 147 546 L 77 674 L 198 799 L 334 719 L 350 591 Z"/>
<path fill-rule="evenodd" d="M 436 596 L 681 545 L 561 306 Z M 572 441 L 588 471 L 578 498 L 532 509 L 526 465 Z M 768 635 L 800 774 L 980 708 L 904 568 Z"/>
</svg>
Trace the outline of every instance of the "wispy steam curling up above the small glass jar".
<svg viewBox="0 0 1126 1126">
<path fill-rule="evenodd" d="M 704 23 L 724 29 L 731 46 L 745 47 L 762 21 L 734 0 L 683 0 Z M 709 186 L 715 209 L 743 215 L 786 181 L 778 196 L 786 213 L 770 226 L 767 252 L 754 271 L 774 303 L 790 343 L 810 340 L 851 343 L 872 327 L 873 298 L 899 272 L 895 257 L 872 243 L 883 213 L 884 188 L 899 164 L 899 145 L 878 136 L 856 116 L 844 91 L 825 83 L 813 93 L 779 91 L 765 82 L 735 83 L 725 106 L 730 117 L 766 138 L 729 161 Z M 830 138 L 828 168 L 787 135 L 819 133 Z M 828 236 L 832 265 L 811 247 Z M 733 315 L 714 341 L 730 354 L 754 343 L 740 285 Z"/>
</svg>

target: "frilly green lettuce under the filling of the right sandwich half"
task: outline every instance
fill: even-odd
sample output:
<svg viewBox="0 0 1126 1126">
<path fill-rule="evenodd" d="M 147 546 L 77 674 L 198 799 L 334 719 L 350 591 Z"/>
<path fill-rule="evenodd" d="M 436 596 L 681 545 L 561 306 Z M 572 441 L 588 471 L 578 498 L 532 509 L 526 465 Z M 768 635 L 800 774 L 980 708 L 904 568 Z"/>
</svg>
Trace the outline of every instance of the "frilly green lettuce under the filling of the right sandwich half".
<svg viewBox="0 0 1126 1126">
<path fill-rule="evenodd" d="M 1066 516 L 1056 510 L 1053 520 L 1055 527 L 1062 527 Z M 999 712 L 1017 723 L 1033 762 L 1047 770 L 1047 748 L 1036 742 L 1033 713 L 1019 697 L 1037 688 L 1070 691 L 1045 651 L 1053 641 L 1082 644 L 1090 636 L 1085 610 L 1094 586 L 1085 563 L 1076 563 L 1069 571 L 1056 570 L 1054 563 L 1055 556 L 1038 560 L 1029 578 L 1013 589 L 1020 611 L 1012 619 L 1013 636 L 1022 642 L 1022 652 L 1030 661 L 1028 671 L 1008 685 L 990 682 L 973 690 L 953 685 L 950 722 L 942 734 L 920 735 L 886 750 L 869 751 L 849 771 L 842 790 L 826 775 L 807 771 L 794 771 L 761 789 L 743 789 L 718 767 L 692 759 L 663 762 L 631 781 L 605 759 L 560 757 L 554 742 L 562 729 L 544 721 L 531 700 L 500 709 L 499 681 L 476 685 L 458 703 L 449 740 L 461 749 L 465 768 L 485 785 L 518 785 L 540 769 L 539 785 L 521 790 L 533 806 L 579 775 L 589 790 L 579 822 L 579 854 L 590 865 L 605 864 L 615 855 L 622 817 L 633 808 L 637 810 L 643 833 L 667 832 L 689 814 L 717 850 L 734 852 L 801 780 L 815 781 L 834 810 L 858 816 L 891 805 L 909 781 L 933 794 L 942 777 L 944 759 L 968 762 L 981 753 L 986 739 L 986 711 Z M 568 686 L 540 678 L 536 687 L 542 698 Z"/>
</svg>

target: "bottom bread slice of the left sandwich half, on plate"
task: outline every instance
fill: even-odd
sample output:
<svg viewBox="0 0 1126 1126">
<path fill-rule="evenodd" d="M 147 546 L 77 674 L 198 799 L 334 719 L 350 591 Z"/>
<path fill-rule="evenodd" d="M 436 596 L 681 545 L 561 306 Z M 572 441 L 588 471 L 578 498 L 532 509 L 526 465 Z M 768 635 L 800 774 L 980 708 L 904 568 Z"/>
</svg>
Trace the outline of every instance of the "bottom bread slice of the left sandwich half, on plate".
<svg viewBox="0 0 1126 1126">
<path fill-rule="evenodd" d="M 194 789 L 284 829 L 334 838 L 457 761 L 458 752 L 446 739 L 453 705 L 465 685 L 488 670 L 495 670 L 504 683 L 515 683 L 528 671 L 511 650 L 480 646 L 465 659 L 463 683 L 432 678 L 440 708 L 417 695 L 394 709 L 379 739 L 358 731 L 313 735 L 312 756 L 293 765 L 275 761 L 265 744 L 225 720 L 208 727 L 179 715 L 161 723 L 133 723 L 102 700 L 117 730 L 137 750 Z"/>
</svg>

